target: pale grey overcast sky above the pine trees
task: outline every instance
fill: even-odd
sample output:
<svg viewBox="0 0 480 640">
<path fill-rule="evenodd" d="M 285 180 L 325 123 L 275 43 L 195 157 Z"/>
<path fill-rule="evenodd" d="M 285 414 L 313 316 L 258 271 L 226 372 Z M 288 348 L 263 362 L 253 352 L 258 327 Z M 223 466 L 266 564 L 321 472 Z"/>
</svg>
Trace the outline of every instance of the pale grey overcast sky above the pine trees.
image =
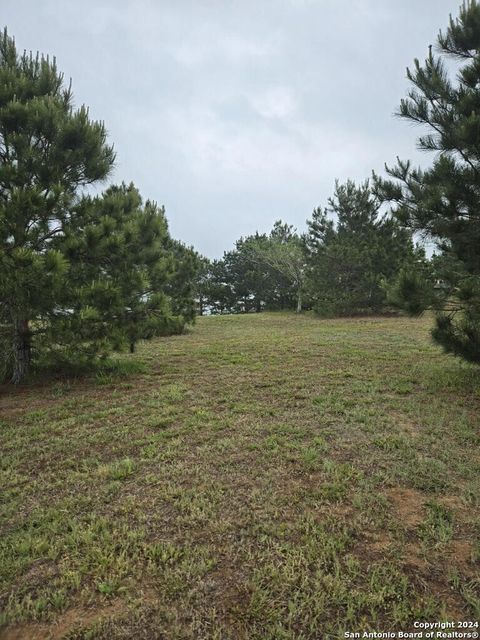
<svg viewBox="0 0 480 640">
<path fill-rule="evenodd" d="M 431 161 L 394 113 L 459 4 L 0 0 L 0 25 L 55 56 L 105 122 L 109 182 L 133 181 L 175 238 L 218 258 L 278 219 L 304 231 L 336 179 Z"/>
</svg>

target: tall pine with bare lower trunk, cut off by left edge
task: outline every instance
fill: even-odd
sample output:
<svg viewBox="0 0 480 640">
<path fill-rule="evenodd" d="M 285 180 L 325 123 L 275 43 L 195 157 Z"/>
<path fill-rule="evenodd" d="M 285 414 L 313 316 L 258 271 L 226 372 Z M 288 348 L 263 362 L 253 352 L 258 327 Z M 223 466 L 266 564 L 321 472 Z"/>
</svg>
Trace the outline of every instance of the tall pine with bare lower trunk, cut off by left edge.
<svg viewBox="0 0 480 640">
<path fill-rule="evenodd" d="M 54 243 L 79 187 L 114 162 L 105 127 L 74 109 L 55 60 L 0 34 L 0 323 L 13 382 L 27 373 L 32 336 L 61 297 L 68 261 Z"/>
</svg>

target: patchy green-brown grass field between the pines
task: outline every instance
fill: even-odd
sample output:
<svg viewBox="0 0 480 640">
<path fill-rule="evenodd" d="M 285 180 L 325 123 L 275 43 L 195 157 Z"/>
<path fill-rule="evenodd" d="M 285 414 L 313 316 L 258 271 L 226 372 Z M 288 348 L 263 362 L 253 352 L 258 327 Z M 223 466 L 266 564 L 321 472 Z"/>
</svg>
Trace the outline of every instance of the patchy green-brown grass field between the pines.
<svg viewBox="0 0 480 640">
<path fill-rule="evenodd" d="M 201 318 L 122 362 L 2 388 L 2 639 L 480 617 L 479 369 L 428 319 Z"/>
</svg>

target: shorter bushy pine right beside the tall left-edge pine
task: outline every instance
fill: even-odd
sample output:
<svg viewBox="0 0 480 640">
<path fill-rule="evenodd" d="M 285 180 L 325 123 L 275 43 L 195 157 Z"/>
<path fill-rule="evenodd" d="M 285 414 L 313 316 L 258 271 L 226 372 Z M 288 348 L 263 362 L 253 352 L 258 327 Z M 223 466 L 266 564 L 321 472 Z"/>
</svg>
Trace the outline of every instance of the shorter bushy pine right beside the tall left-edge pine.
<svg viewBox="0 0 480 640">
<path fill-rule="evenodd" d="M 181 331 L 191 317 L 174 310 L 169 295 L 181 277 L 164 209 L 143 205 L 134 185 L 122 184 L 82 198 L 73 212 L 56 239 L 70 269 L 47 342 L 94 357 Z"/>
</svg>

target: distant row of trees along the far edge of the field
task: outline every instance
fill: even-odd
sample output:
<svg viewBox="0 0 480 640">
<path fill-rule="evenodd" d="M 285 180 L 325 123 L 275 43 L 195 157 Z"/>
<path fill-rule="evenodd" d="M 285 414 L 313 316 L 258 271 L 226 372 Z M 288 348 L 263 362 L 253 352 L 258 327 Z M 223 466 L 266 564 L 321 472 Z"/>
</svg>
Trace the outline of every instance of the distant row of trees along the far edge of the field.
<svg viewBox="0 0 480 640">
<path fill-rule="evenodd" d="M 425 261 L 411 233 L 380 213 L 368 181 L 337 183 L 328 206 L 315 209 L 307 224 L 300 235 L 277 221 L 270 234 L 241 238 L 221 260 L 204 260 L 200 312 L 382 313 L 392 309 L 386 282 Z"/>
</svg>

